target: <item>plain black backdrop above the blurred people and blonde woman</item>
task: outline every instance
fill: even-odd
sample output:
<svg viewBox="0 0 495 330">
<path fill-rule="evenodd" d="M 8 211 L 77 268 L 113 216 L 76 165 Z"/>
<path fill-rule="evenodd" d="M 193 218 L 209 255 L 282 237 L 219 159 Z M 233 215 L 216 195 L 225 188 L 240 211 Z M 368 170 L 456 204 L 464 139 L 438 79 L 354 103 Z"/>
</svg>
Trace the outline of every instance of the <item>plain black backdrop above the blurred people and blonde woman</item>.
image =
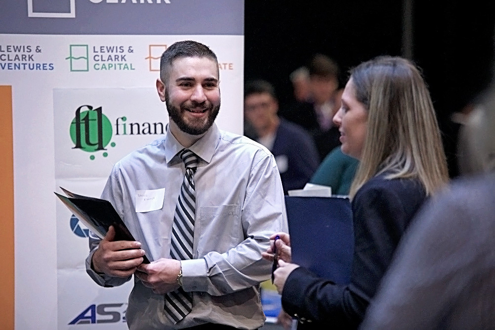
<svg viewBox="0 0 495 330">
<path fill-rule="evenodd" d="M 246 0 L 245 79 L 272 82 L 291 101 L 289 74 L 315 53 L 347 70 L 377 55 L 404 55 L 403 1 Z M 451 176 L 450 120 L 488 87 L 494 71 L 495 1 L 411 1 L 412 60 L 430 87 Z"/>
</svg>

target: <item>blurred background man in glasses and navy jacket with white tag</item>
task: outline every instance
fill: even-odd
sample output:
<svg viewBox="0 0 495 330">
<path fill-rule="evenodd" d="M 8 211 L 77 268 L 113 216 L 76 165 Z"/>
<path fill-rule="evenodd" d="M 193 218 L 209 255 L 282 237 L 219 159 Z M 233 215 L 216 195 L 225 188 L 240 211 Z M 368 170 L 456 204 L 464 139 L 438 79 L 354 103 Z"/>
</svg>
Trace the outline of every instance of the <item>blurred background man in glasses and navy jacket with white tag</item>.
<svg viewBox="0 0 495 330">
<path fill-rule="evenodd" d="M 256 141 L 275 157 L 285 194 L 303 188 L 319 164 L 311 137 L 303 128 L 279 118 L 277 97 L 269 82 L 247 82 L 244 95 L 245 119 L 254 128 Z"/>
</svg>

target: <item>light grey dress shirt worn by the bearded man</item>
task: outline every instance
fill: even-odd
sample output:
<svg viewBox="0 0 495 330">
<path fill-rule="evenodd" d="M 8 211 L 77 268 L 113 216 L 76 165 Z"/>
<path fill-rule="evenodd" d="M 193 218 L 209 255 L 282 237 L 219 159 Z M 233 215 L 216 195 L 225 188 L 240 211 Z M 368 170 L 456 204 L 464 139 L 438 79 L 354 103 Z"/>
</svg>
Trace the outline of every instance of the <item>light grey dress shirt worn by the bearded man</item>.
<svg viewBox="0 0 495 330">
<path fill-rule="evenodd" d="M 184 147 L 167 128 L 164 138 L 114 165 L 101 197 L 109 200 L 148 258 L 170 257 L 172 223 L 185 168 Z M 183 287 L 193 293 L 193 311 L 177 325 L 164 315 L 164 296 L 134 278 L 126 319 L 130 329 L 180 329 L 211 322 L 256 329 L 265 317 L 258 284 L 270 277 L 261 252 L 274 232 L 287 232 L 284 194 L 271 153 L 244 136 L 213 126 L 189 148 L 199 156 L 194 180 L 194 259 L 182 264 Z M 163 207 L 136 212 L 136 191 L 165 188 Z M 129 278 L 98 275 L 91 258 L 99 240 L 90 237 L 88 274 L 103 286 Z"/>
</svg>

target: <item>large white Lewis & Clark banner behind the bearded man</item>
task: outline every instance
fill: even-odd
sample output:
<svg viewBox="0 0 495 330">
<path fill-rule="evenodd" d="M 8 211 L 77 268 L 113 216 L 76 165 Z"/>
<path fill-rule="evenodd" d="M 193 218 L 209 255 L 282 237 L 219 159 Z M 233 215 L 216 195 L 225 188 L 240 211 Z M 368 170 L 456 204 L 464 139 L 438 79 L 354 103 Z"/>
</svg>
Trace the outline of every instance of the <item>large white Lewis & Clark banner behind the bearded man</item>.
<svg viewBox="0 0 495 330">
<path fill-rule="evenodd" d="M 242 31 L 244 1 L 192 0 L 186 6 L 153 0 L 147 7 L 146 1 L 70 0 L 65 1 L 70 4 L 67 13 L 55 14 L 49 6 L 63 1 L 27 0 L 28 10 L 5 1 L 0 4 L 0 19 L 6 24 L 0 27 L 0 85 L 12 86 L 13 98 L 15 329 L 126 329 L 132 283 L 101 288 L 89 278 L 84 270 L 87 229 L 53 191 L 62 186 L 98 197 L 111 166 L 161 134 L 168 117 L 154 86 L 159 56 L 176 41 L 196 40 L 216 53 L 222 95 L 217 124 L 242 134 L 244 36 L 216 31 L 228 31 L 222 24 Z M 221 10 L 229 3 L 235 4 L 237 14 Z M 174 15 L 176 7 L 202 14 L 192 20 Z M 150 16 L 140 16 L 136 8 L 148 8 Z M 238 17 L 235 22 L 233 17 Z M 56 19 L 59 28 L 52 24 Z M 71 23 L 76 20 L 77 25 Z M 113 27 L 129 31 L 113 35 Z M 150 33 L 153 27 L 171 34 Z M 209 34 L 202 34 L 206 31 Z M 78 138 L 86 139 L 75 134 L 76 111 L 89 115 L 81 125 L 92 130 L 92 113 L 97 111 L 90 108 L 101 111 L 101 124 L 112 131 L 106 130 L 101 141 L 90 134 L 80 141 L 86 148 L 75 148 Z"/>
</svg>

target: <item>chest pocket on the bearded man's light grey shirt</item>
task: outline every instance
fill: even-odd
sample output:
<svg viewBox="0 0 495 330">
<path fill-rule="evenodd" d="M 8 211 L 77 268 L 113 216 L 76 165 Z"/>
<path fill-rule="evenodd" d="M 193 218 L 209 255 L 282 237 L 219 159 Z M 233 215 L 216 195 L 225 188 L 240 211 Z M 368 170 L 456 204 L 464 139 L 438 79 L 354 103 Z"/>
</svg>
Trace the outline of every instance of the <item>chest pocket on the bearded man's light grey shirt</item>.
<svg viewBox="0 0 495 330">
<path fill-rule="evenodd" d="M 195 235 L 199 235 L 198 258 L 211 251 L 227 252 L 244 240 L 244 235 L 239 234 L 242 233 L 240 205 L 201 207 L 198 220 L 199 226 L 195 225 Z"/>
</svg>

